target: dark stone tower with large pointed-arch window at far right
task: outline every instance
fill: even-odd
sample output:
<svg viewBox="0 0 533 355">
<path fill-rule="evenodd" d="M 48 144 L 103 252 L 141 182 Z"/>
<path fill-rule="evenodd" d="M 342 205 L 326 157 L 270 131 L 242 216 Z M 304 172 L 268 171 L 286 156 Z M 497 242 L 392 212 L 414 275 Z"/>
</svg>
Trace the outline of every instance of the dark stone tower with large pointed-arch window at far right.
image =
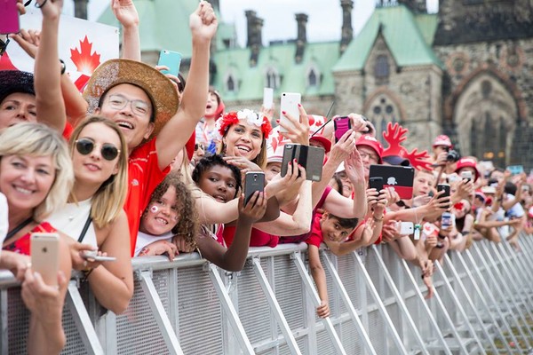
<svg viewBox="0 0 533 355">
<path fill-rule="evenodd" d="M 461 153 L 533 168 L 533 3 L 441 0 L 443 127 Z"/>
</svg>

